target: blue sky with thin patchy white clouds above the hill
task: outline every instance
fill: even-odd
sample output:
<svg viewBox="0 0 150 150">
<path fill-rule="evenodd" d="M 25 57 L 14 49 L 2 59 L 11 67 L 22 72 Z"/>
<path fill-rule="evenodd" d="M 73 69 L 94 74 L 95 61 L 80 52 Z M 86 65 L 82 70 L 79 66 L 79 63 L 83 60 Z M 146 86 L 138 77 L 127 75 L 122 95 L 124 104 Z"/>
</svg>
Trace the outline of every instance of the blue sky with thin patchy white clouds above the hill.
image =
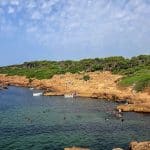
<svg viewBox="0 0 150 150">
<path fill-rule="evenodd" d="M 150 0 L 0 0 L 0 66 L 150 54 Z"/>
</svg>

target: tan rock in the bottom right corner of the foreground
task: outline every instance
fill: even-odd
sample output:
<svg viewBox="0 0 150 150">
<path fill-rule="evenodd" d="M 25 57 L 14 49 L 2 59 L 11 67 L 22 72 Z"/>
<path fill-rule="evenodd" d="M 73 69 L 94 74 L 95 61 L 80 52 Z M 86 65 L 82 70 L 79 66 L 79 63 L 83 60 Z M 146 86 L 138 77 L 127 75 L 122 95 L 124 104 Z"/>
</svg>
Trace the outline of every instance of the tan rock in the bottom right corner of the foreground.
<svg viewBox="0 0 150 150">
<path fill-rule="evenodd" d="M 130 150 L 150 150 L 150 141 L 146 142 L 131 142 Z"/>
</svg>

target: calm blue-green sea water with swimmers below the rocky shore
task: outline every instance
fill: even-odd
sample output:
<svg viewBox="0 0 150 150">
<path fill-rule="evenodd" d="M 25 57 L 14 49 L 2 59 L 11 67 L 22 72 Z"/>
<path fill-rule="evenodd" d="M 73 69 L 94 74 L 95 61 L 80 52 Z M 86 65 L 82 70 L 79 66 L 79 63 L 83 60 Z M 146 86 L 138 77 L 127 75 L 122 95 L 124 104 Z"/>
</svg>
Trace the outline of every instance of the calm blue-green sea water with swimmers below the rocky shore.
<svg viewBox="0 0 150 150">
<path fill-rule="evenodd" d="M 150 114 L 124 113 L 116 103 L 89 98 L 33 97 L 27 88 L 0 91 L 0 150 L 91 150 L 127 148 L 150 140 Z"/>
</svg>

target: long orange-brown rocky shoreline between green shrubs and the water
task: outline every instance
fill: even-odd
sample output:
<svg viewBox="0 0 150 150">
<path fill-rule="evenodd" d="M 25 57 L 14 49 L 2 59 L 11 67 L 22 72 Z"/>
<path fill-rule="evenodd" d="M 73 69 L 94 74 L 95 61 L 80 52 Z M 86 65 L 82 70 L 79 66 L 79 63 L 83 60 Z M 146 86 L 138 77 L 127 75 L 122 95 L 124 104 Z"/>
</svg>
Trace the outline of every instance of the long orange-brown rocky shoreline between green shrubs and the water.
<svg viewBox="0 0 150 150">
<path fill-rule="evenodd" d="M 83 80 L 88 75 L 90 80 Z M 111 72 L 88 72 L 80 74 L 67 73 L 55 75 L 51 79 L 28 79 L 24 76 L 0 75 L 0 85 L 33 87 L 44 90 L 45 96 L 60 96 L 76 93 L 79 97 L 107 99 L 116 102 L 125 101 L 126 104 L 117 106 L 122 111 L 150 112 L 150 93 L 133 91 L 132 87 L 120 88 L 117 82 L 121 75 Z"/>
</svg>

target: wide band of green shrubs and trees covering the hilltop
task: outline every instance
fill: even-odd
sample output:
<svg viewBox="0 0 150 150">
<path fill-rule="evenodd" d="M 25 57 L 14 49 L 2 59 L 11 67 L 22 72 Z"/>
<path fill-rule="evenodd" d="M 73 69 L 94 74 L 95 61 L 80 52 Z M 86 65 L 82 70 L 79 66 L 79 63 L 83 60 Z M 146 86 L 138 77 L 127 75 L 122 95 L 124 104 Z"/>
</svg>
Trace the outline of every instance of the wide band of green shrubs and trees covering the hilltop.
<svg viewBox="0 0 150 150">
<path fill-rule="evenodd" d="M 140 55 L 126 59 L 121 56 L 108 58 L 83 59 L 80 61 L 33 61 L 21 65 L 0 67 L 1 74 L 21 75 L 28 78 L 47 79 L 55 74 L 66 72 L 111 71 L 122 74 L 121 86 L 133 85 L 141 91 L 150 87 L 150 55 Z M 87 77 L 84 77 L 86 80 Z"/>
</svg>

